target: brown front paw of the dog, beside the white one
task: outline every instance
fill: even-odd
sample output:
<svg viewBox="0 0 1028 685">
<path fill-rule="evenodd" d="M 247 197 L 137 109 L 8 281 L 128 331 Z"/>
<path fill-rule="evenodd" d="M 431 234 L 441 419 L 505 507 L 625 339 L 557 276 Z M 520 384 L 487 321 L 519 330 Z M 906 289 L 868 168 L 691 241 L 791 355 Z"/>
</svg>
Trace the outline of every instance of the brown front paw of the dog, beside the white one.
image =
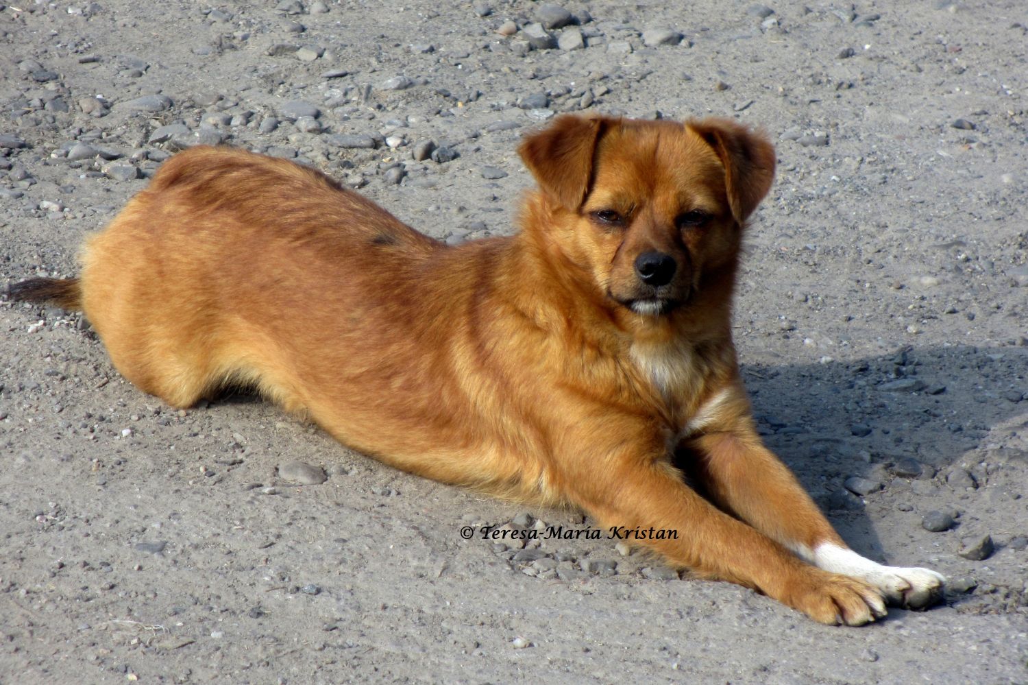
<svg viewBox="0 0 1028 685">
<path fill-rule="evenodd" d="M 885 602 L 874 585 L 858 578 L 810 569 L 805 578 L 790 583 L 784 604 L 818 623 L 864 625 L 885 615 Z"/>
</svg>

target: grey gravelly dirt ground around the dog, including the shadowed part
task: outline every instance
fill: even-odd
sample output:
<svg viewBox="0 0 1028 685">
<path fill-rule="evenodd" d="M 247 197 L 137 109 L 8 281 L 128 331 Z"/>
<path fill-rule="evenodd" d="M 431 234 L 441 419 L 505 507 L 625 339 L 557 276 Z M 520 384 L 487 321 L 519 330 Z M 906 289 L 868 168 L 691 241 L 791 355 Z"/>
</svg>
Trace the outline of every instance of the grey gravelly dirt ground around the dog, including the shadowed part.
<svg viewBox="0 0 1028 685">
<path fill-rule="evenodd" d="M 0 284 L 74 274 L 197 142 L 460 241 L 514 230 L 514 148 L 555 113 L 764 127 L 761 431 L 857 551 L 950 580 L 827 627 L 614 540 L 483 540 L 590 522 L 254 397 L 172 410 L 78 316 L 2 301 L 0 682 L 1028 683 L 1026 53 L 1023 0 L 0 3 Z"/>
</svg>

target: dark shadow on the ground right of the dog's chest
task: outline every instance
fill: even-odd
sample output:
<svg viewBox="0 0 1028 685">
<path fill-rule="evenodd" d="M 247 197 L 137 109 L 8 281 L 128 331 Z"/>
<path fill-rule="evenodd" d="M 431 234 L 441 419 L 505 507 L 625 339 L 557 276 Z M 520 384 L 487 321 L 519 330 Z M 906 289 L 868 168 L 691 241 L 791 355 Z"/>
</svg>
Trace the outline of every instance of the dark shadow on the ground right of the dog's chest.
<svg viewBox="0 0 1028 685">
<path fill-rule="evenodd" d="M 889 489 L 900 478 L 945 492 L 955 468 L 983 461 L 978 450 L 988 448 L 991 462 L 1025 458 L 1016 429 L 1028 426 L 1028 399 L 1016 395 L 1028 390 L 1028 349 L 906 348 L 847 363 L 743 363 L 742 372 L 766 444 L 843 538 L 878 561 L 897 550 L 882 548 L 865 500 L 846 488 L 849 478 L 871 481 L 851 481 L 857 491 Z M 910 460 L 921 465 L 920 476 L 909 474 Z M 984 477 L 974 468 L 971 476 Z"/>
</svg>

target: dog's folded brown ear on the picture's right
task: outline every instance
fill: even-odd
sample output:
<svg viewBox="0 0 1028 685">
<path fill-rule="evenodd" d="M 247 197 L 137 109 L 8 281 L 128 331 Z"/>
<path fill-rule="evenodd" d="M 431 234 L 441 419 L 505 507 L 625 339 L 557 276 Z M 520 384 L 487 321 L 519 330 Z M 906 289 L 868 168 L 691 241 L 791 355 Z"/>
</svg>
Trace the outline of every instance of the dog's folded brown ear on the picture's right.
<svg viewBox="0 0 1028 685">
<path fill-rule="evenodd" d="M 725 188 L 732 216 L 741 225 L 771 189 L 774 146 L 763 133 L 731 119 L 706 118 L 690 121 L 688 125 L 714 149 L 725 165 Z"/>
</svg>

